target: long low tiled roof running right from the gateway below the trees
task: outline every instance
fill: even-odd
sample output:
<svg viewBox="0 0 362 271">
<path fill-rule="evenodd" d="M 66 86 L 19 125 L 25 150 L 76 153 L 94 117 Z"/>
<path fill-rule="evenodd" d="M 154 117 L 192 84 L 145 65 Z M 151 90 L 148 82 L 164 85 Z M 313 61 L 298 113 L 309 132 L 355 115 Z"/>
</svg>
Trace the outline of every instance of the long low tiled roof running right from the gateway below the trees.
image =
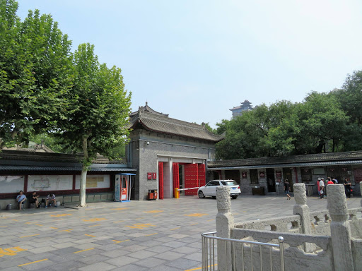
<svg viewBox="0 0 362 271">
<path fill-rule="evenodd" d="M 357 152 L 329 152 L 316 155 L 292 155 L 287 157 L 259 157 L 250 159 L 231 159 L 223 161 L 209 162 L 209 168 L 216 167 L 250 167 L 257 165 L 277 165 L 279 164 L 297 164 L 311 162 L 342 162 L 351 160 L 361 160 L 362 151 Z M 291 166 L 293 167 L 293 165 Z M 302 166 L 303 167 L 303 166 Z"/>
</svg>

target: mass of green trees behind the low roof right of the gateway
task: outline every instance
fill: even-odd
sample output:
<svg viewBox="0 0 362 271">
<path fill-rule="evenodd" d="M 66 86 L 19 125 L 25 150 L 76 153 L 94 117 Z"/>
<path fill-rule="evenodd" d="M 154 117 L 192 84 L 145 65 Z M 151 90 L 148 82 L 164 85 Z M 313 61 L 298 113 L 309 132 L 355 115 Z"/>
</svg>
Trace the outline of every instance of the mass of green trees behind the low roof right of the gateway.
<svg viewBox="0 0 362 271">
<path fill-rule="evenodd" d="M 303 103 L 262 104 L 217 124 L 226 139 L 216 145 L 222 159 L 300 155 L 339 151 L 349 117 L 332 95 L 311 92 Z"/>
</svg>

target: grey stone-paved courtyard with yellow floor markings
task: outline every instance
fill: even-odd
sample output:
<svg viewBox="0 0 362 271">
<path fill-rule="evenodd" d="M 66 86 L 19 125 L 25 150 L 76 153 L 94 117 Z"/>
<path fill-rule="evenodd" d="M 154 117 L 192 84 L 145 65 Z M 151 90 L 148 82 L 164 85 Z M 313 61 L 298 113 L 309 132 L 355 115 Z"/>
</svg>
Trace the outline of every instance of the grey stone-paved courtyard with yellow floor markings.
<svg viewBox="0 0 362 271">
<path fill-rule="evenodd" d="M 361 198 L 347 200 L 359 207 Z M 284 196 L 231 200 L 235 222 L 293 214 Z M 311 211 L 327 200 L 308 197 Z M 216 200 L 182 197 L 0 212 L 0 270 L 201 270 L 201 236 Z"/>
</svg>

